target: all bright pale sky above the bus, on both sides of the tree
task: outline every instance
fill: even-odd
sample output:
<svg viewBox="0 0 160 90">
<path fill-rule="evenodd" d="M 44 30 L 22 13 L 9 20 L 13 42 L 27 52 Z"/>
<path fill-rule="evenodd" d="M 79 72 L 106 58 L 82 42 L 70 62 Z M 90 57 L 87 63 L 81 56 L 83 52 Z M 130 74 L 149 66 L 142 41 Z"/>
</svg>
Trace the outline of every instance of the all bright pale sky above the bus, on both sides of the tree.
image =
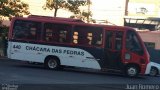
<svg viewBox="0 0 160 90">
<path fill-rule="evenodd" d="M 53 16 L 54 11 L 43 10 L 43 5 L 46 0 L 22 0 L 29 4 L 29 11 L 33 15 Z M 91 0 L 92 18 L 95 20 L 114 21 L 115 24 L 120 24 L 117 19 L 124 16 L 125 0 Z M 87 10 L 87 7 L 86 7 Z M 65 10 L 59 10 L 58 17 L 70 17 L 72 13 Z M 116 22 L 117 21 L 117 22 Z"/>
</svg>

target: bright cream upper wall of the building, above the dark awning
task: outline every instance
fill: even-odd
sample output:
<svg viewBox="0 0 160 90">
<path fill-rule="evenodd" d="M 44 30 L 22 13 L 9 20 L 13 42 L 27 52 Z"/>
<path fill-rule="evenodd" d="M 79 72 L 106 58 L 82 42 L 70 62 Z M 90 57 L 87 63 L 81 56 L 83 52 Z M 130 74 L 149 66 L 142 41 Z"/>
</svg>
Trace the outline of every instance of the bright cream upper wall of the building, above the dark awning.
<svg viewBox="0 0 160 90">
<path fill-rule="evenodd" d="M 160 16 L 160 0 L 127 0 L 127 16 Z"/>
</svg>

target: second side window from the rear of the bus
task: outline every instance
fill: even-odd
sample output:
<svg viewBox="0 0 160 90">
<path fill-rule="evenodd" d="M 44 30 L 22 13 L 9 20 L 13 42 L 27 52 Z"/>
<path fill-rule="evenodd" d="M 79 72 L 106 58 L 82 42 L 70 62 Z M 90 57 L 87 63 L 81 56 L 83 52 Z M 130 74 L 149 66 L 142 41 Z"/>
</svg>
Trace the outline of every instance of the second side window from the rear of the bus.
<svg viewBox="0 0 160 90">
<path fill-rule="evenodd" d="M 44 40 L 47 42 L 70 42 L 72 27 L 65 24 L 46 23 L 44 24 Z"/>
</svg>

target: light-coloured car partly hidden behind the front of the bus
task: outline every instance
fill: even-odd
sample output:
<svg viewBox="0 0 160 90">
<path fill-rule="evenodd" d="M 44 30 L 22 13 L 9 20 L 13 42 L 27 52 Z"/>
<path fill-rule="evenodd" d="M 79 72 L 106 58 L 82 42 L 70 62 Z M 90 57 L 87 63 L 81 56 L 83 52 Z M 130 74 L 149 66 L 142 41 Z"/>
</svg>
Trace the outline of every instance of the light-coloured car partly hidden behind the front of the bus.
<svg viewBox="0 0 160 90">
<path fill-rule="evenodd" d="M 146 74 L 158 76 L 160 74 L 160 64 L 151 61 L 147 66 Z"/>
</svg>

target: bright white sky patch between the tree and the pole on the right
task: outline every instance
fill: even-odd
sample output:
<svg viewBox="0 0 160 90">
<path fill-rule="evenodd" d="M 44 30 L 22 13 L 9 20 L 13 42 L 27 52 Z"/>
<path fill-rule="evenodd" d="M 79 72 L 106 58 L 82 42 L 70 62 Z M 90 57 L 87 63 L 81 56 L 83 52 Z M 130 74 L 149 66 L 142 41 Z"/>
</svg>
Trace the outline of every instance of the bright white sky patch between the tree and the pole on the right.
<svg viewBox="0 0 160 90">
<path fill-rule="evenodd" d="M 114 19 L 124 16 L 125 0 L 92 0 L 93 18 Z"/>
</svg>

